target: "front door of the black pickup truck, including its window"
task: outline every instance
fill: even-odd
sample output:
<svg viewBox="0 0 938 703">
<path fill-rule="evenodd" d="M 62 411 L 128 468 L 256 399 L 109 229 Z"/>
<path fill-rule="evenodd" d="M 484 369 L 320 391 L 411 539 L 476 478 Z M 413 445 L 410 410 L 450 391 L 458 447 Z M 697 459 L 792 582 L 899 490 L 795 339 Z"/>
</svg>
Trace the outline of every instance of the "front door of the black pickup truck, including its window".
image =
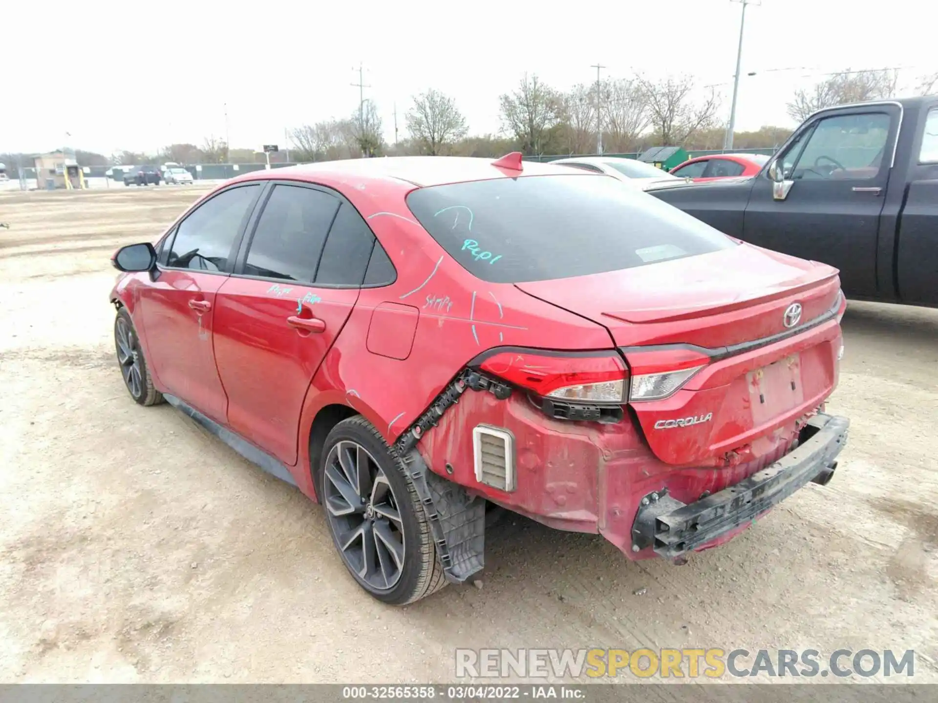
<svg viewBox="0 0 938 703">
<path fill-rule="evenodd" d="M 875 295 L 879 217 L 899 108 L 878 105 L 821 115 L 779 156 L 794 182 L 775 200 L 764 171 L 749 194 L 742 239 L 840 269 L 848 295 Z"/>
</svg>

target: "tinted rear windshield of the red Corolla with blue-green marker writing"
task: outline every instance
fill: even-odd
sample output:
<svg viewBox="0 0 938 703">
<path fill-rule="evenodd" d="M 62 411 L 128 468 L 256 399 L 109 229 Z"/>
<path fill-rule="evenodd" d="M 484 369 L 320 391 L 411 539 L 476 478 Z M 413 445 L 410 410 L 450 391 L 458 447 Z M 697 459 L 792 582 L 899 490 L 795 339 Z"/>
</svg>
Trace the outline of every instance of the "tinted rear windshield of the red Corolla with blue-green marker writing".
<svg viewBox="0 0 938 703">
<path fill-rule="evenodd" d="M 676 207 L 609 176 L 498 178 L 419 188 L 411 212 L 474 276 L 586 276 L 735 247 Z"/>
</svg>

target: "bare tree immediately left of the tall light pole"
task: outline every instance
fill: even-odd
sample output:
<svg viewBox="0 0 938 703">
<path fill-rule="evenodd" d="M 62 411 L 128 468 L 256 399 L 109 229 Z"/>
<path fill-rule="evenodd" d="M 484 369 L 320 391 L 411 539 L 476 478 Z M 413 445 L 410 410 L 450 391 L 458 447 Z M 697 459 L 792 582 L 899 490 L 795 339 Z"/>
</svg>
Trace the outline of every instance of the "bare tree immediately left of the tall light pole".
<svg viewBox="0 0 938 703">
<path fill-rule="evenodd" d="M 719 96 L 710 88 L 695 100 L 691 76 L 669 76 L 658 82 L 637 76 L 635 85 L 647 101 L 649 122 L 663 146 L 683 146 L 696 132 L 713 126 Z"/>
</svg>

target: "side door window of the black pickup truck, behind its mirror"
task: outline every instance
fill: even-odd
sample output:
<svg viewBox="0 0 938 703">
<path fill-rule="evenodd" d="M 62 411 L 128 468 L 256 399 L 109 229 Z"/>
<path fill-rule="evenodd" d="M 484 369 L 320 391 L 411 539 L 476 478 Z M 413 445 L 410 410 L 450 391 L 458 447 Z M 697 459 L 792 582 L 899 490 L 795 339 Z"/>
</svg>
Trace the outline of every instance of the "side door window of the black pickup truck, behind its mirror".
<svg viewBox="0 0 938 703">
<path fill-rule="evenodd" d="M 820 120 L 801 153 L 794 156 L 789 177 L 795 181 L 875 178 L 884 164 L 890 124 L 885 112 L 839 114 Z M 798 142 L 793 147 L 799 146 Z M 789 152 L 794 155 L 794 149 Z M 787 171 L 787 155 L 785 161 Z"/>
</svg>

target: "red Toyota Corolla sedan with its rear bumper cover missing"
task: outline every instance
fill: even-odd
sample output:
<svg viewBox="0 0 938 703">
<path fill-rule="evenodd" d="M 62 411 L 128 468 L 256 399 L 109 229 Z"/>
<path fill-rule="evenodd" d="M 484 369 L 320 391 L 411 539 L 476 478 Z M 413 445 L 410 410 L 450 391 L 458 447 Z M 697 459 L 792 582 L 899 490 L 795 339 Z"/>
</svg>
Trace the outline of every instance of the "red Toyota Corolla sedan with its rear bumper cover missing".
<svg viewBox="0 0 938 703">
<path fill-rule="evenodd" d="M 598 173 L 255 172 L 113 264 L 130 396 L 322 502 L 387 603 L 477 574 L 489 504 L 684 561 L 825 484 L 846 438 L 837 271 Z"/>
</svg>

